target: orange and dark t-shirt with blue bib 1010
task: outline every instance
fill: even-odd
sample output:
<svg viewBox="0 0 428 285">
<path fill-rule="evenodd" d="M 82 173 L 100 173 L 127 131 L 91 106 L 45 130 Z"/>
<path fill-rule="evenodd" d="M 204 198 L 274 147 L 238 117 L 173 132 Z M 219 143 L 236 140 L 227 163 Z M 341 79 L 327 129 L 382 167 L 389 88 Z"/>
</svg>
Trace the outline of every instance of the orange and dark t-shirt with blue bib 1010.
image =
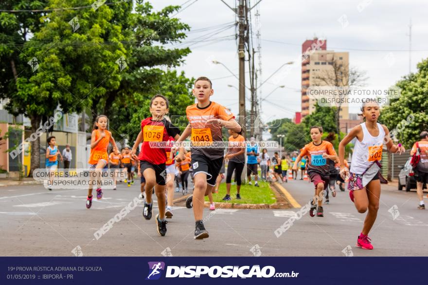
<svg viewBox="0 0 428 285">
<path fill-rule="evenodd" d="M 307 155 L 308 165 L 307 171 L 318 172 L 321 175 L 329 174 L 328 158 L 323 158 L 322 155 L 327 153 L 328 155 L 337 155 L 331 142 L 321 141 L 321 144 L 315 145 L 314 142 L 310 142 L 300 150 L 300 156 Z"/>
</svg>

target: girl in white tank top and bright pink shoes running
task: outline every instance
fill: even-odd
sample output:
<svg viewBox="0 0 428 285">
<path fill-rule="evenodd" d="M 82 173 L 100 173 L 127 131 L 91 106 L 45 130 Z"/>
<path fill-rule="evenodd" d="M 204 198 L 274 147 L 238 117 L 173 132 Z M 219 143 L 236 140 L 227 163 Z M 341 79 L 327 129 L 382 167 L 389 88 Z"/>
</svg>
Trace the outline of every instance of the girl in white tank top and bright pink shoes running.
<svg viewBox="0 0 428 285">
<path fill-rule="evenodd" d="M 365 250 L 373 250 L 369 232 L 375 224 L 377 209 L 379 209 L 380 160 L 384 145 L 387 151 L 396 153 L 404 151 L 401 144 L 394 145 L 389 139 L 388 128 L 379 124 L 380 115 L 377 104 L 365 104 L 362 108 L 365 122 L 354 127 L 339 143 L 340 175 L 344 178 L 349 174 L 349 197 L 354 202 L 359 213 L 365 213 L 364 226 L 357 238 L 356 246 Z M 345 167 L 345 146 L 357 138 L 351 161 L 351 171 Z M 386 180 L 384 180 L 386 182 Z"/>
</svg>

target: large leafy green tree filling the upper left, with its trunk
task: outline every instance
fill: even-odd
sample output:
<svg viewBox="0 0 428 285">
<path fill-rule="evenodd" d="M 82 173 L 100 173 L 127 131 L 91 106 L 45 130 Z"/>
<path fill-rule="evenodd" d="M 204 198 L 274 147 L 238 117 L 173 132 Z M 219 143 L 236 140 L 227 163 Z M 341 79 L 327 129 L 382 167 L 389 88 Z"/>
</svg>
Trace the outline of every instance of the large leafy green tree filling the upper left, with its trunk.
<svg viewBox="0 0 428 285">
<path fill-rule="evenodd" d="M 164 47 L 184 39 L 189 29 L 172 17 L 178 6 L 152 12 L 150 3 L 143 0 L 106 3 L 97 9 L 90 7 L 93 0 L 21 0 L 25 2 L 21 6 L 13 2 L 1 7 L 46 11 L 20 12 L 37 23 L 29 21 L 24 31 L 25 22 L 10 16 L 21 14 L 4 12 L 1 19 L 7 21 L 0 21 L 2 30 L 15 29 L 0 36 L 9 39 L 8 47 L 18 50 L 14 51 L 17 76 L 12 82 L 11 76 L 0 79 L 0 98 L 9 100 L 10 113 L 30 118 L 33 133 L 42 117 L 53 116 L 57 107 L 65 113 L 89 109 L 95 118 L 101 113 L 111 116 L 115 102 L 131 104 L 135 97 L 140 101 L 151 97 L 164 76 L 153 67 L 176 67 L 190 52 Z M 89 7 L 70 9 L 83 6 Z M 8 56 L 3 48 L 2 61 Z M 1 72 L 14 74 L 11 69 L 4 67 Z M 30 175 L 39 167 L 39 147 L 37 137 L 31 144 Z"/>
</svg>

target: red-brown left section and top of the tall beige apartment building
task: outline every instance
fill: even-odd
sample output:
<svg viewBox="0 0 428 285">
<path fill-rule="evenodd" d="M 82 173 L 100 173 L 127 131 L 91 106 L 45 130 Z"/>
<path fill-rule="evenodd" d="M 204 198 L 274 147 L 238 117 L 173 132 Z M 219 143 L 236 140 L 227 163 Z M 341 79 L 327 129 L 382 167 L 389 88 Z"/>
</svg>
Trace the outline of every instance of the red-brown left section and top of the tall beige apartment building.
<svg viewBox="0 0 428 285">
<path fill-rule="evenodd" d="M 314 38 L 312 40 L 305 40 L 302 45 L 302 58 L 306 57 L 302 60 L 302 118 L 310 114 L 309 97 L 306 95 L 306 89 L 309 87 L 310 80 L 310 68 L 308 65 L 311 58 L 309 55 L 314 50 L 327 50 L 327 40 L 323 40 L 320 45 L 318 38 Z"/>
</svg>

